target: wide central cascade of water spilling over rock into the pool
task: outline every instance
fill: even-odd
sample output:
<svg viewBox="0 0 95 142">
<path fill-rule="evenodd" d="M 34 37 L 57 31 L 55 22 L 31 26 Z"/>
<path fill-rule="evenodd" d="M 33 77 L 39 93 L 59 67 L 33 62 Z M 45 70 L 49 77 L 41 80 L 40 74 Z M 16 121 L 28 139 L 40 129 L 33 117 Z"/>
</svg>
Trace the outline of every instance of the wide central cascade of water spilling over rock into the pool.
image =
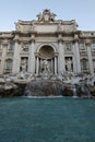
<svg viewBox="0 0 95 142">
<path fill-rule="evenodd" d="M 63 83 L 52 80 L 31 81 L 24 92 L 25 96 L 62 96 Z"/>
</svg>

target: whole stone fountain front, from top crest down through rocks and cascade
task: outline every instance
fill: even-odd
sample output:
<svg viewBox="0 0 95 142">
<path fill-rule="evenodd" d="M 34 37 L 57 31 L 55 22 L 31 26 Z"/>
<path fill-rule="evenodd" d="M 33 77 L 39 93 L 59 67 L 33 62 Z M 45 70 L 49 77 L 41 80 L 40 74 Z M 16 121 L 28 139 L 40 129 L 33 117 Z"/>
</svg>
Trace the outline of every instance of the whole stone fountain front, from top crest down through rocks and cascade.
<svg viewBox="0 0 95 142">
<path fill-rule="evenodd" d="M 56 20 L 48 9 L 1 32 L 0 55 L 3 91 L 24 84 L 27 95 L 90 96 L 95 85 L 95 32 L 79 31 L 75 20 Z"/>
</svg>

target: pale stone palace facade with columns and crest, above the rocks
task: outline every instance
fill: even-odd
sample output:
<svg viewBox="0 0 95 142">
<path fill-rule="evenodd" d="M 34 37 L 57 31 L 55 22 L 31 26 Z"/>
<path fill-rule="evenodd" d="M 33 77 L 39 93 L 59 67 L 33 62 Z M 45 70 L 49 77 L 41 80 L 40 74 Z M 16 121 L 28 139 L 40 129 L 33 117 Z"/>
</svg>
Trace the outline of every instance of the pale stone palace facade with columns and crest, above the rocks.
<svg viewBox="0 0 95 142">
<path fill-rule="evenodd" d="M 37 20 L 15 23 L 0 32 L 0 74 L 60 74 L 95 72 L 95 31 L 79 31 L 74 20 L 56 20 L 44 10 Z"/>
</svg>

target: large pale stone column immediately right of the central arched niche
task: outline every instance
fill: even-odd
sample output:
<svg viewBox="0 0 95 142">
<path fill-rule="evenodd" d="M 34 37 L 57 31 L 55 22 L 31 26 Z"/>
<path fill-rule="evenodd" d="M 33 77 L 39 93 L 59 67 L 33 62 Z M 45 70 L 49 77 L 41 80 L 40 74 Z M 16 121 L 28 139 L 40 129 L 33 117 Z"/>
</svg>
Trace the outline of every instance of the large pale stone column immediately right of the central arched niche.
<svg viewBox="0 0 95 142">
<path fill-rule="evenodd" d="M 64 47 L 62 43 L 62 38 L 59 37 L 58 39 L 58 50 L 59 50 L 59 56 L 58 56 L 58 73 L 61 73 L 64 71 Z"/>
</svg>

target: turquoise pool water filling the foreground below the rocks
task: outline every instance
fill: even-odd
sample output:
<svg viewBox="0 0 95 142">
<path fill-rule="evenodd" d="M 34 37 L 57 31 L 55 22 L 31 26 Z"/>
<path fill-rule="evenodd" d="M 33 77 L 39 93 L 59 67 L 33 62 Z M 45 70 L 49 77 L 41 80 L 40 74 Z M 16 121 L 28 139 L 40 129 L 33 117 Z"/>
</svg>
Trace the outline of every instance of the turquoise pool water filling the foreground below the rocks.
<svg viewBox="0 0 95 142">
<path fill-rule="evenodd" d="M 95 100 L 0 98 L 0 142 L 95 142 Z"/>
</svg>

